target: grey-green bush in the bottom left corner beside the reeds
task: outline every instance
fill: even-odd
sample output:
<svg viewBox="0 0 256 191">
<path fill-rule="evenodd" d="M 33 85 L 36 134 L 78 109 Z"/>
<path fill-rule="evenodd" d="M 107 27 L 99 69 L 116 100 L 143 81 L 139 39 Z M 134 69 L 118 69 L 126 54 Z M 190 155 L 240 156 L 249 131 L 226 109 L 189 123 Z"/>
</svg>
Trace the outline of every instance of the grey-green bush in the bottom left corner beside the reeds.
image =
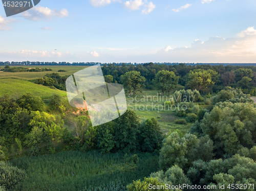
<svg viewBox="0 0 256 191">
<path fill-rule="evenodd" d="M 0 185 L 7 190 L 22 182 L 26 177 L 27 174 L 24 170 L 0 161 Z"/>
</svg>

